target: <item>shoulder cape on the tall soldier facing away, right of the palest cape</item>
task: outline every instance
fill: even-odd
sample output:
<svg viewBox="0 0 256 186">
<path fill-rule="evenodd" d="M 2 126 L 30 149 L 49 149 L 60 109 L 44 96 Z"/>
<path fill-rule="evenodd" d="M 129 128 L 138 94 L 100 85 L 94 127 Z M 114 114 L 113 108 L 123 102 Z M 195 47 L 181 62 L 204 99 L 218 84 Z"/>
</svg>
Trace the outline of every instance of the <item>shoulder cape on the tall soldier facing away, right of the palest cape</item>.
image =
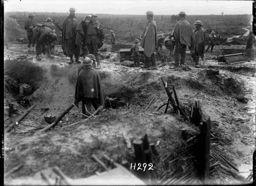
<svg viewBox="0 0 256 186">
<path fill-rule="evenodd" d="M 180 20 L 176 23 L 174 28 L 174 39 L 189 47 L 193 47 L 194 42 L 194 34 L 193 30 L 184 18 L 180 18 Z"/>
</svg>

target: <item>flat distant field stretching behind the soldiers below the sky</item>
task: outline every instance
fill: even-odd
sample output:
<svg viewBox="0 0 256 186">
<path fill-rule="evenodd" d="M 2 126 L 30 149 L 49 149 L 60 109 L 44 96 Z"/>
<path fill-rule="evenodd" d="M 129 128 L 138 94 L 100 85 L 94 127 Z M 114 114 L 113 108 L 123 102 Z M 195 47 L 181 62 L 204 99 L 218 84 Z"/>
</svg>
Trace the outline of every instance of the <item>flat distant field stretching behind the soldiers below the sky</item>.
<svg viewBox="0 0 256 186">
<path fill-rule="evenodd" d="M 36 16 L 34 21 L 36 23 L 45 22 L 46 18 L 51 17 L 53 22 L 60 24 L 62 27 L 63 20 L 68 13 L 50 13 L 50 12 L 35 12 Z M 80 19 L 89 15 L 89 13 L 76 14 Z M 111 14 L 97 14 L 98 21 L 103 25 L 106 39 L 110 34 L 110 30 L 114 30 L 117 40 L 120 42 L 132 42 L 136 36 L 141 36 L 146 25 L 145 15 L 111 15 Z M 158 34 L 164 34 L 172 32 L 176 24 L 175 20 L 170 15 L 155 15 L 154 18 L 157 22 Z M 24 30 L 24 21 L 28 17 L 28 12 L 6 12 L 5 18 L 11 17 L 16 19 L 17 23 Z M 196 20 L 203 22 L 203 28 L 206 33 L 210 33 L 212 30 L 217 34 L 221 34 L 223 37 L 232 37 L 234 35 L 243 35 L 246 31 L 243 28 L 250 26 L 252 20 L 251 15 L 187 15 L 186 20 L 193 26 Z M 60 31 L 58 31 L 60 34 Z M 24 31 L 23 37 L 26 36 Z M 22 36 L 20 36 L 22 37 Z M 241 44 L 245 44 L 246 39 L 241 41 Z"/>
</svg>

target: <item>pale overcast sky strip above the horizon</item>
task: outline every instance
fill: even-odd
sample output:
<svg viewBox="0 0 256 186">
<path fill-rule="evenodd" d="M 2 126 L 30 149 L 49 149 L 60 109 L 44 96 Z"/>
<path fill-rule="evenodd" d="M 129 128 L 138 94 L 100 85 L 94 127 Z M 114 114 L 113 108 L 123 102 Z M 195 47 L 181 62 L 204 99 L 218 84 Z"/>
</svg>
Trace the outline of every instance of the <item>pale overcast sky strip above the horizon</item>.
<svg viewBox="0 0 256 186">
<path fill-rule="evenodd" d="M 185 11 L 190 15 L 252 14 L 252 1 L 4 1 L 4 11 L 68 12 L 74 7 L 77 13 L 135 14 L 152 10 L 158 15 L 172 15 Z"/>
</svg>

